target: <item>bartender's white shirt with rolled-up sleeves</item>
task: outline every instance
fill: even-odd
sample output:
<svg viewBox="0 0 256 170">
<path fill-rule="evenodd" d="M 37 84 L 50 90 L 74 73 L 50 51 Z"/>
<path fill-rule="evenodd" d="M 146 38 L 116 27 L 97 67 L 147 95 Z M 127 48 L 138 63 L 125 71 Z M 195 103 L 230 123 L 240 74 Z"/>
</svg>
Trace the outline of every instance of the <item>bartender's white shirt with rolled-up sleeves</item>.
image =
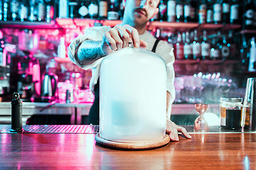
<svg viewBox="0 0 256 170">
<path fill-rule="evenodd" d="M 84 40 L 95 40 L 99 41 L 102 40 L 103 34 L 110 29 L 110 26 L 100 26 L 100 27 L 92 27 L 85 29 L 85 34 L 80 35 L 77 38 L 75 38 L 68 48 L 68 57 L 70 60 L 77 64 L 82 69 L 92 69 L 92 78 L 90 80 L 90 90 L 93 91 L 93 87 L 95 84 L 97 84 L 97 79 L 99 79 L 100 76 L 100 63 L 102 62 L 102 58 L 99 60 L 93 62 L 89 65 L 80 64 L 80 62 L 75 60 L 75 48 L 78 47 L 80 42 Z M 152 50 L 154 46 L 154 42 L 156 41 L 156 38 L 151 35 L 148 31 L 145 31 L 144 34 L 139 35 L 140 40 L 144 40 L 147 42 L 147 50 Z M 166 89 L 171 94 L 171 103 L 174 101 L 175 98 L 175 89 L 174 89 L 174 48 L 171 47 L 171 45 L 168 44 L 168 42 L 164 40 L 160 40 L 159 44 L 156 46 L 156 54 L 159 55 L 164 59 L 164 62 L 166 62 L 166 68 L 167 68 L 167 84 Z"/>
</svg>

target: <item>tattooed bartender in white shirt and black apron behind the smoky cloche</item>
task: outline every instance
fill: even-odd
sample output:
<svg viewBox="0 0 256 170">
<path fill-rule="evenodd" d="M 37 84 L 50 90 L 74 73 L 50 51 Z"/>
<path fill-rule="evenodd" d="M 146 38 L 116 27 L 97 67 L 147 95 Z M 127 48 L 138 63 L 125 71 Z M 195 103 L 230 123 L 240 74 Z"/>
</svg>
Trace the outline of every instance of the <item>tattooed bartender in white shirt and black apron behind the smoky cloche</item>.
<svg viewBox="0 0 256 170">
<path fill-rule="evenodd" d="M 92 69 L 90 89 L 95 94 L 95 101 L 89 113 L 89 123 L 99 124 L 99 75 L 102 58 L 111 52 L 128 47 L 132 42 L 134 47 L 145 47 L 156 52 L 166 62 L 167 91 L 166 91 L 166 132 L 171 141 L 178 141 L 178 132 L 186 138 L 191 138 L 185 128 L 171 122 L 171 103 L 175 98 L 174 89 L 174 52 L 173 47 L 166 41 L 157 40 L 146 30 L 146 23 L 159 12 L 160 0 L 123 0 L 124 16 L 122 23 L 114 28 L 109 26 L 85 29 L 70 43 L 68 57 L 82 69 Z"/>
</svg>

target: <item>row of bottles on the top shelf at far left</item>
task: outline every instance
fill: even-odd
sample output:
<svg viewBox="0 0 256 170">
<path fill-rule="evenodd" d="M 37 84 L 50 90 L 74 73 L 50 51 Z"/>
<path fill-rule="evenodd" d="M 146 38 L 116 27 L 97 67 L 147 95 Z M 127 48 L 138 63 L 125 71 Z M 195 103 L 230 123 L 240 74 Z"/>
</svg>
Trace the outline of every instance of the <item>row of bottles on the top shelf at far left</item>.
<svg viewBox="0 0 256 170">
<path fill-rule="evenodd" d="M 54 0 L 1 0 L 0 21 L 46 21 L 54 19 Z"/>
</svg>

